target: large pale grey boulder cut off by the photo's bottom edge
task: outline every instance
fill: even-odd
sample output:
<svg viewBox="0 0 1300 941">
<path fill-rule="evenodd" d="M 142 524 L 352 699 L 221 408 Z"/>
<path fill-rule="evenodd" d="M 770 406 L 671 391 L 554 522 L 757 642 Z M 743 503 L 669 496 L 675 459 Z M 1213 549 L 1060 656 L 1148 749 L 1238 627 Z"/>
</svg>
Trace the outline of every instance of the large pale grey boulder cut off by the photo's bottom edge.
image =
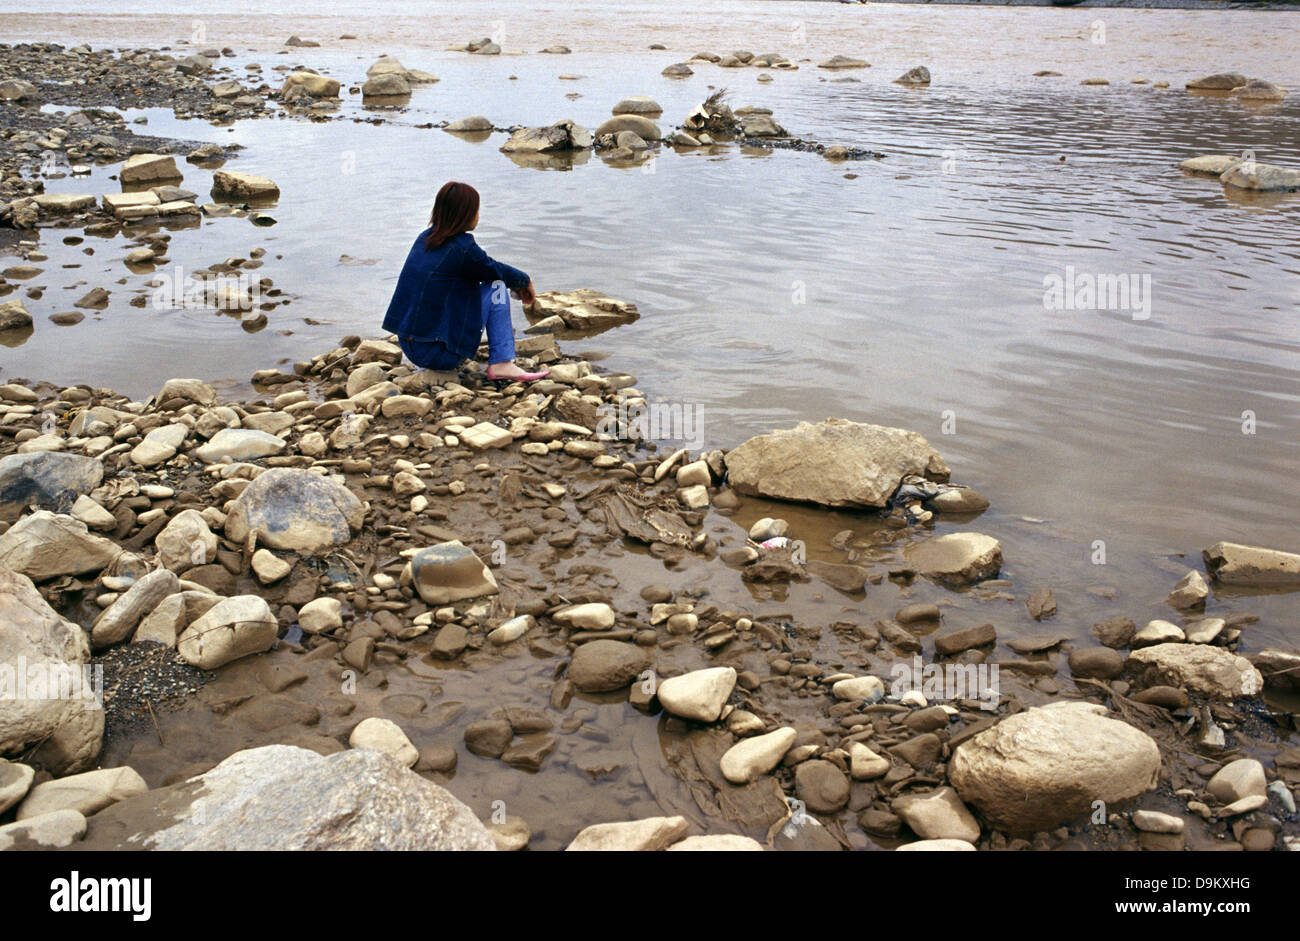
<svg viewBox="0 0 1300 941">
<path fill-rule="evenodd" d="M 447 790 L 373 749 L 237 751 L 100 811 L 87 846 L 156 850 L 494 850 Z"/>
</svg>

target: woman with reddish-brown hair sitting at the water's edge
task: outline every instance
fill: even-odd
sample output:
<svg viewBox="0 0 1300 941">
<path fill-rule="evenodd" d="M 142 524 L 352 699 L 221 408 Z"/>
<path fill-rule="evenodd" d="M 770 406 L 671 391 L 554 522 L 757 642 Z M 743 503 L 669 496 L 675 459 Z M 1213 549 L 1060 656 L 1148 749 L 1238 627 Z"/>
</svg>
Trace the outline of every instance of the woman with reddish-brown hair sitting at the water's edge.
<svg viewBox="0 0 1300 941">
<path fill-rule="evenodd" d="M 510 294 L 532 304 L 532 279 L 494 261 L 469 233 L 478 225 L 478 191 L 451 182 L 438 190 L 429 227 L 411 246 L 384 329 L 424 369 L 454 369 L 478 351 L 488 329 L 488 378 L 532 382 L 550 374 L 515 365 Z"/>
</svg>

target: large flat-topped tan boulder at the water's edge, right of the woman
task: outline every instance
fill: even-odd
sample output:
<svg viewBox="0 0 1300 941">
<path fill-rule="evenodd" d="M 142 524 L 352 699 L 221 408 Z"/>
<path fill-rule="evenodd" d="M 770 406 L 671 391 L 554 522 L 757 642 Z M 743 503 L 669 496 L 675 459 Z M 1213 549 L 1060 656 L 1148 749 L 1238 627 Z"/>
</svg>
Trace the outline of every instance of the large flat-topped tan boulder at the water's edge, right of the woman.
<svg viewBox="0 0 1300 941">
<path fill-rule="evenodd" d="M 827 507 L 883 507 L 904 477 L 948 473 L 915 432 L 844 419 L 760 434 L 727 454 L 733 490 Z"/>
</svg>

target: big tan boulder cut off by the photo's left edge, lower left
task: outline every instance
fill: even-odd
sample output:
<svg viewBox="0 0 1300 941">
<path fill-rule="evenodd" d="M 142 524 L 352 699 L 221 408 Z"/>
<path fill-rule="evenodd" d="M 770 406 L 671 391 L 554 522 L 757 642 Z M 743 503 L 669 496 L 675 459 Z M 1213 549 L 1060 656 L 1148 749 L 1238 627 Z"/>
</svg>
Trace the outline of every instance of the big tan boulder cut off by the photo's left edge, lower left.
<svg viewBox="0 0 1300 941">
<path fill-rule="evenodd" d="M 13 689 L 0 708 L 0 754 L 14 754 L 38 742 L 40 762 L 55 773 L 91 767 L 104 738 L 104 710 L 84 682 L 90 663 L 86 632 L 46 603 L 31 580 L 0 567 L 0 688 Z M 20 676 L 18 665 L 26 669 Z M 35 672 L 32 672 L 35 668 Z M 5 677 L 5 671 L 9 671 Z M 82 695 L 44 697 L 31 688 L 68 681 Z"/>
</svg>

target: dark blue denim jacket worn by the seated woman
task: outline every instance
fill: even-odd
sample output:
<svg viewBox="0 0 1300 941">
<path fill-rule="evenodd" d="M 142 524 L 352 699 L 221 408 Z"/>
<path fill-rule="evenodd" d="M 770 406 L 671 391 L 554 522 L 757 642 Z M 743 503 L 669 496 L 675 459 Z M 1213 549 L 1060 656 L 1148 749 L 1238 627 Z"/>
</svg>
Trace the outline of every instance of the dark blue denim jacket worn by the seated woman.
<svg viewBox="0 0 1300 941">
<path fill-rule="evenodd" d="M 488 257 L 474 237 L 462 233 L 437 248 L 425 248 L 425 229 L 411 246 L 398 286 L 384 316 L 384 329 L 420 343 L 441 342 L 469 359 L 482 337 L 482 296 L 478 286 L 504 281 L 511 290 L 526 287 L 529 277 Z"/>
</svg>

